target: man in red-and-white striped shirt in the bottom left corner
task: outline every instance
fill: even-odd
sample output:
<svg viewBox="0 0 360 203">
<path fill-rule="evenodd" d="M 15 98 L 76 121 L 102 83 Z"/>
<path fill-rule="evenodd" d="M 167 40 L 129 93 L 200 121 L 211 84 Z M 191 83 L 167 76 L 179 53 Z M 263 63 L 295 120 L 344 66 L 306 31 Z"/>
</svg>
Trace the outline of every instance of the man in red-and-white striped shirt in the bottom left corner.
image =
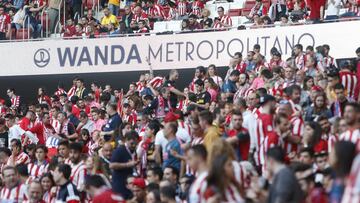
<svg viewBox="0 0 360 203">
<path fill-rule="evenodd" d="M 27 199 L 27 187 L 20 183 L 19 175 L 13 166 L 2 169 L 5 187 L 0 191 L 0 200 L 4 202 L 22 202 Z"/>
</svg>

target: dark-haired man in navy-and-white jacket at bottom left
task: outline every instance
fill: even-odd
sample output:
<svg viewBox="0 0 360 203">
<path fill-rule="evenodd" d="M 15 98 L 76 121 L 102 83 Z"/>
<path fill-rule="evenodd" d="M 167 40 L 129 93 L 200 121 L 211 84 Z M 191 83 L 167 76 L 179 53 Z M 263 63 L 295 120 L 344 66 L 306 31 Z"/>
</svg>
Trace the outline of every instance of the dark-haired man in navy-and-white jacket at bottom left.
<svg viewBox="0 0 360 203">
<path fill-rule="evenodd" d="M 54 182 L 59 186 L 56 194 L 56 201 L 80 203 L 80 195 L 75 185 L 70 180 L 71 167 L 67 164 L 60 164 L 54 171 Z"/>
</svg>

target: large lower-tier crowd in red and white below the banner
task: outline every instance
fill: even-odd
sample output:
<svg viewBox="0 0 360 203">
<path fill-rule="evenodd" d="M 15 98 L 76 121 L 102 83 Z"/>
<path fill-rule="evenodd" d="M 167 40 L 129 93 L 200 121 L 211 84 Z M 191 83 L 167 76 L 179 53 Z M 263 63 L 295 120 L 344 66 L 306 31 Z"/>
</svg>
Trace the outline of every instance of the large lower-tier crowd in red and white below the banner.
<svg viewBox="0 0 360 203">
<path fill-rule="evenodd" d="M 0 101 L 0 202 L 360 201 L 360 48 L 283 60 L 255 45 L 227 74 L 196 68 L 120 88 L 75 77 Z M 126 90 L 125 90 L 126 89 Z"/>
</svg>

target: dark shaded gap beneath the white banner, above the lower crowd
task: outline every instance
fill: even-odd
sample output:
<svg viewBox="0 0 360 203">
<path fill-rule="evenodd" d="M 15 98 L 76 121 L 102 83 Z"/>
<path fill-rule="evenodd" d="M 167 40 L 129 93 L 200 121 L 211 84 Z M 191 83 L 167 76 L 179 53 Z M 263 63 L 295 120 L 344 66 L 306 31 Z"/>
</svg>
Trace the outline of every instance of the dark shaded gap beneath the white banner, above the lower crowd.
<svg viewBox="0 0 360 203">
<path fill-rule="evenodd" d="M 183 89 L 188 86 L 194 77 L 195 68 L 178 70 L 180 77 L 176 81 L 176 87 Z M 219 75 L 225 76 L 227 68 L 218 67 Z M 72 79 L 79 76 L 85 81 L 86 88 L 90 88 L 93 81 L 98 82 L 102 87 L 110 84 L 113 89 L 123 88 L 128 90 L 131 82 L 137 82 L 139 75 L 145 71 L 129 71 L 129 72 L 111 72 L 111 73 L 83 73 L 83 74 L 59 74 L 59 75 L 36 75 L 36 76 L 0 76 L 0 98 L 8 98 L 6 90 L 15 88 L 16 94 L 22 96 L 23 101 L 28 103 L 36 101 L 37 89 L 45 87 L 48 95 L 52 95 L 57 88 L 59 82 L 65 85 L 68 90 L 72 85 Z M 169 70 L 154 71 L 155 76 L 166 76 Z"/>
</svg>

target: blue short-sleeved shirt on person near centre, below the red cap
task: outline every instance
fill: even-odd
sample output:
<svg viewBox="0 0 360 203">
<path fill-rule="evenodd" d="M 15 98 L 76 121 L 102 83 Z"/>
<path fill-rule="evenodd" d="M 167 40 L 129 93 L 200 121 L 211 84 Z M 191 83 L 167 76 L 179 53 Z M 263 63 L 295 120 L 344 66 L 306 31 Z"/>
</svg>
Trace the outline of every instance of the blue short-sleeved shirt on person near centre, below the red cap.
<svg viewBox="0 0 360 203">
<path fill-rule="evenodd" d="M 177 139 L 173 139 L 165 147 L 163 168 L 172 166 L 180 170 L 181 160 L 177 159 L 171 154 L 171 150 L 176 151 L 178 154 L 182 154 L 180 142 Z"/>
</svg>

